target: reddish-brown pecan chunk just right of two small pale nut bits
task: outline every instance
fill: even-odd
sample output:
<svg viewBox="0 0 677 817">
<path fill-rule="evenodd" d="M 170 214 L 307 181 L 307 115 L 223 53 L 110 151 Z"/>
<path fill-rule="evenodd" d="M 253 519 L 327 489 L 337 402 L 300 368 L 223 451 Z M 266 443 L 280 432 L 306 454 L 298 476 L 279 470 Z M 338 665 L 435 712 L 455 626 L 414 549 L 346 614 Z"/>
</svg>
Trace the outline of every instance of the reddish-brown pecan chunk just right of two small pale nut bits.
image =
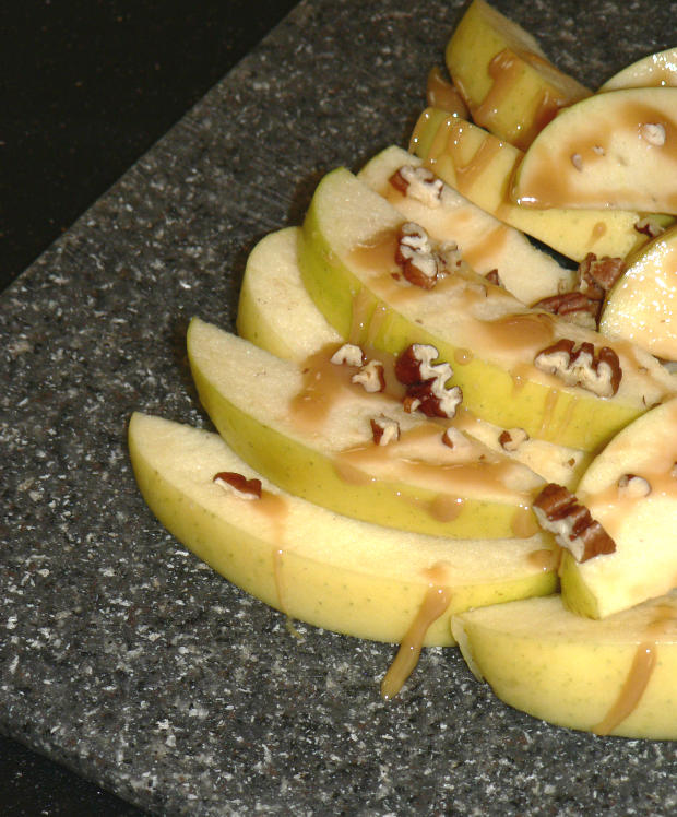
<svg viewBox="0 0 677 817">
<path fill-rule="evenodd" d="M 418 410 L 428 417 L 453 417 L 456 413 L 463 392 L 458 386 L 446 388 L 453 370 L 448 363 L 432 365 L 438 356 L 435 346 L 413 343 L 395 360 L 395 377 L 407 387 L 405 412 Z"/>
</svg>

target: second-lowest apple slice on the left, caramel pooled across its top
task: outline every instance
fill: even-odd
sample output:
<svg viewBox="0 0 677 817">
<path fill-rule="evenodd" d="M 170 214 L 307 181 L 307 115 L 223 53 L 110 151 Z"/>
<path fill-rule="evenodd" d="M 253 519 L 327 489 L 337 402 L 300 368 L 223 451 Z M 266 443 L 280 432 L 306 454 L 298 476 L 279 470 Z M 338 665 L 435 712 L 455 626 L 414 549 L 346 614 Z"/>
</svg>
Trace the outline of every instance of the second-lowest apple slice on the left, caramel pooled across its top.
<svg viewBox="0 0 677 817">
<path fill-rule="evenodd" d="M 199 319 L 188 330 L 193 380 L 212 422 L 239 457 L 285 490 L 345 516 L 419 533 L 533 533 L 531 501 L 543 485 L 539 476 L 471 438 L 452 450 L 442 441 L 443 425 L 406 413 L 401 399 L 387 393 L 367 393 L 348 381 L 332 384 L 328 396 L 318 382 L 325 381 L 331 354 L 312 369 Z M 381 415 L 401 431 L 384 447 L 375 443 L 370 425 Z"/>
</svg>

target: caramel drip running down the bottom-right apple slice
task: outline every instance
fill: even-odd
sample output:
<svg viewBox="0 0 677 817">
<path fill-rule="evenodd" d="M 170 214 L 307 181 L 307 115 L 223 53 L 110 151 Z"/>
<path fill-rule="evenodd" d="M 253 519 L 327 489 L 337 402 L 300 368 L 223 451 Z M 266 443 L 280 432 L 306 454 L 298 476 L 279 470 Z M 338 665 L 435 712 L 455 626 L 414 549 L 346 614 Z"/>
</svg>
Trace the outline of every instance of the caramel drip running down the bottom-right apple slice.
<svg viewBox="0 0 677 817">
<path fill-rule="evenodd" d="M 620 688 L 618 698 L 598 724 L 592 727 L 596 735 L 609 735 L 634 710 L 644 695 L 657 661 L 657 639 L 677 616 L 677 611 L 670 604 L 658 606 L 656 616 L 646 628 L 649 639 L 642 641 L 634 652 L 634 658 L 626 680 Z"/>
</svg>

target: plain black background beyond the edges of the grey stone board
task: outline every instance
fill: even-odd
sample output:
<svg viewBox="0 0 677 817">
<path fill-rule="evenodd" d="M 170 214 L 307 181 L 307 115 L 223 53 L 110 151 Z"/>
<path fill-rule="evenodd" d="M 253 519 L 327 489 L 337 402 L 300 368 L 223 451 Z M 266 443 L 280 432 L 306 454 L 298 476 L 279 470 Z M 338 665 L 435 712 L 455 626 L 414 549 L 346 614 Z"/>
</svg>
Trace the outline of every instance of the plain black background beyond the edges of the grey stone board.
<svg viewBox="0 0 677 817">
<path fill-rule="evenodd" d="M 0 289 L 295 4 L 2 2 Z M 0 813 L 141 814 L 2 736 Z"/>
</svg>

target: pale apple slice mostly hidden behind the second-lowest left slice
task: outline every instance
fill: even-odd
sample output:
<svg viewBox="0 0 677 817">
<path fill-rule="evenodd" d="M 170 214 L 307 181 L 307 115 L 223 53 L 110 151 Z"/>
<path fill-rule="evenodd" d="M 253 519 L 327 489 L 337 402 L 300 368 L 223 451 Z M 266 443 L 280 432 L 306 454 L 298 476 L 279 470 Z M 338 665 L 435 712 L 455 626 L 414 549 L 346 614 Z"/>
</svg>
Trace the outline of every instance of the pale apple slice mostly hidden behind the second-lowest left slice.
<svg viewBox="0 0 677 817">
<path fill-rule="evenodd" d="M 342 343 L 306 292 L 296 263 L 298 228 L 272 233 L 261 240 L 247 263 L 240 294 L 238 330 L 241 338 L 286 360 L 304 364 L 322 348 Z M 256 262 L 254 262 L 256 261 Z M 504 451 L 506 430 L 461 408 L 453 425 L 494 451 Z M 591 455 L 574 448 L 530 438 L 508 454 L 546 482 L 573 489 Z"/>
</svg>

